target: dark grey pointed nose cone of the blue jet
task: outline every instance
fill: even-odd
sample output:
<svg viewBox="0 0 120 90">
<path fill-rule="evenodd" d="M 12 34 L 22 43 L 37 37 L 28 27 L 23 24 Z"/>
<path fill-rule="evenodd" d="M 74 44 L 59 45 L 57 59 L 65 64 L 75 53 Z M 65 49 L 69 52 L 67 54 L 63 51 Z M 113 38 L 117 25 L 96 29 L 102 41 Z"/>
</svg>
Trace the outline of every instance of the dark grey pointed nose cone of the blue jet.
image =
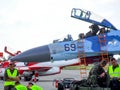
<svg viewBox="0 0 120 90">
<path fill-rule="evenodd" d="M 50 50 L 47 45 L 27 50 L 11 58 L 18 62 L 45 62 L 50 61 Z"/>
</svg>

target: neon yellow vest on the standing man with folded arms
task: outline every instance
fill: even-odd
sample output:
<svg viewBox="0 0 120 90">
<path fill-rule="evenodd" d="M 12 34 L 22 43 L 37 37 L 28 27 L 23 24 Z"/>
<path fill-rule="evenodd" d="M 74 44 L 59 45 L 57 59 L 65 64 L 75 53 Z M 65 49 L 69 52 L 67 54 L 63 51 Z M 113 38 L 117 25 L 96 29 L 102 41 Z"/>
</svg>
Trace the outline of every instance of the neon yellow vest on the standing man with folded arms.
<svg viewBox="0 0 120 90">
<path fill-rule="evenodd" d="M 17 69 L 15 69 L 13 71 L 13 73 L 11 73 L 10 69 L 8 68 L 7 69 L 7 74 L 8 74 L 8 77 L 16 77 L 17 76 Z M 5 81 L 4 86 L 8 86 L 8 85 L 15 85 L 15 82 L 14 81 Z"/>
</svg>

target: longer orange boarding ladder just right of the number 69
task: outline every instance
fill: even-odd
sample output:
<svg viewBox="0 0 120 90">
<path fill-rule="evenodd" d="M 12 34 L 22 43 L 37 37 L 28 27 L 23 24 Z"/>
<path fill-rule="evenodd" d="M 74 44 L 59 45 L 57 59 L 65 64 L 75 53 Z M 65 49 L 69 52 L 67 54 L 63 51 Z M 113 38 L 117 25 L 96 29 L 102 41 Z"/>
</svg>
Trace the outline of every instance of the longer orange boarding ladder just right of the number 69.
<svg viewBox="0 0 120 90">
<path fill-rule="evenodd" d="M 86 70 L 86 55 L 84 51 L 84 34 L 81 34 L 81 38 L 77 42 L 78 47 L 78 59 L 80 60 L 80 79 L 87 78 Z"/>
</svg>

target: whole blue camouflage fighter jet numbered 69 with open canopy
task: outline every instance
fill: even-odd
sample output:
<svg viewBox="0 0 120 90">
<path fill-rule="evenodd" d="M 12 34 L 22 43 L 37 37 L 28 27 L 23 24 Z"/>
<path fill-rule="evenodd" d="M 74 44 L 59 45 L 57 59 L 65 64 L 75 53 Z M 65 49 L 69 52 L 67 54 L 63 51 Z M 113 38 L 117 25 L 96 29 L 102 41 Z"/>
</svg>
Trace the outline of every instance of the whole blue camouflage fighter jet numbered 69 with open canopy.
<svg viewBox="0 0 120 90">
<path fill-rule="evenodd" d="M 84 38 L 82 34 L 77 40 L 67 35 L 64 40 L 54 40 L 48 45 L 35 47 L 24 51 L 11 58 L 11 61 L 23 62 L 47 62 L 75 59 L 80 54 L 86 58 L 100 57 L 101 52 L 108 56 L 120 53 L 120 30 L 113 26 L 107 19 L 96 17 L 88 10 L 73 8 L 71 17 L 92 23 L 92 29 Z M 103 31 L 104 29 L 104 31 Z M 104 33 L 103 33 L 104 32 Z"/>
</svg>

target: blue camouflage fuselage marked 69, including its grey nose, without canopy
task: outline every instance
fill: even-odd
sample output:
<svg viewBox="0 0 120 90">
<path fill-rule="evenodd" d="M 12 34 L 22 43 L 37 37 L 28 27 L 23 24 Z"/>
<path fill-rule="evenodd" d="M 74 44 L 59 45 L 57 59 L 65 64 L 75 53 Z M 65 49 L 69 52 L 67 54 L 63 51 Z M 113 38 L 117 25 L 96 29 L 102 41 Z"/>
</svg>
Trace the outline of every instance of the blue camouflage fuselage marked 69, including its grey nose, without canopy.
<svg viewBox="0 0 120 90">
<path fill-rule="evenodd" d="M 103 34 L 106 38 L 106 45 L 100 46 L 98 36 L 92 36 L 84 39 L 84 52 L 86 57 L 100 56 L 101 50 L 107 50 L 108 54 L 120 53 L 120 31 L 111 30 Z M 56 60 L 69 60 L 78 58 L 78 40 L 59 41 L 45 46 L 36 47 L 27 50 L 15 57 L 12 61 L 23 62 L 44 62 Z"/>
</svg>

